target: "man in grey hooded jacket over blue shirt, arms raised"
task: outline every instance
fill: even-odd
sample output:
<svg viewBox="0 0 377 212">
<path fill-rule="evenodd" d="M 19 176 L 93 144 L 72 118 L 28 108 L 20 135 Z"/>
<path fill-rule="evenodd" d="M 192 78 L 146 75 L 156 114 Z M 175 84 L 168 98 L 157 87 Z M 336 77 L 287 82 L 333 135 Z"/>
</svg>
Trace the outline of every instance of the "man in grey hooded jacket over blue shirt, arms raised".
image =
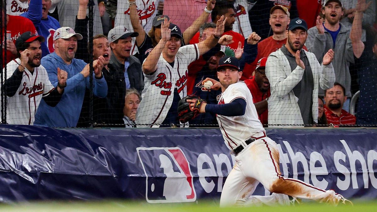
<svg viewBox="0 0 377 212">
<path fill-rule="evenodd" d="M 356 13 L 361 15 L 369 4 L 365 0 L 359 0 Z M 353 22 L 352 29 L 347 28 L 340 23 L 343 15 L 342 3 L 339 0 L 326 0 L 322 8 L 325 15 L 325 22 L 322 23 L 320 17 L 317 17 L 317 25 L 308 30 L 308 40 L 305 45 L 308 51 L 313 52 L 317 60 L 322 62 L 323 55 L 329 49 L 334 50 L 334 71 L 336 81 L 343 84 L 346 88 L 346 96 L 348 100 L 344 103 L 343 109 L 349 111 L 349 100 L 351 99 L 351 75 L 349 74 L 349 65 L 354 63 L 354 55 L 359 58 L 364 48 L 360 48 L 362 24 Z M 356 16 L 356 14 L 355 14 Z M 360 34 L 360 36 L 352 36 L 352 34 Z M 320 89 L 319 95 L 324 96 L 324 91 Z"/>
</svg>

